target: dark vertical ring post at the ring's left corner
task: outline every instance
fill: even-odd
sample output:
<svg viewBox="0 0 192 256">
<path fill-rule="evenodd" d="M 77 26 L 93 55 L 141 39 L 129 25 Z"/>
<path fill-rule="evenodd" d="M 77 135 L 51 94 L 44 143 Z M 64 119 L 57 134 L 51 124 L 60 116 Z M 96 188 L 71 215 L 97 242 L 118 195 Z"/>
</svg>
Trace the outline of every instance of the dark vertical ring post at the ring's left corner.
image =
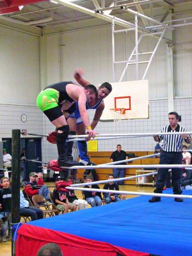
<svg viewBox="0 0 192 256">
<path fill-rule="evenodd" d="M 12 226 L 20 221 L 20 130 L 12 130 Z M 12 256 L 14 256 L 12 232 Z"/>
</svg>

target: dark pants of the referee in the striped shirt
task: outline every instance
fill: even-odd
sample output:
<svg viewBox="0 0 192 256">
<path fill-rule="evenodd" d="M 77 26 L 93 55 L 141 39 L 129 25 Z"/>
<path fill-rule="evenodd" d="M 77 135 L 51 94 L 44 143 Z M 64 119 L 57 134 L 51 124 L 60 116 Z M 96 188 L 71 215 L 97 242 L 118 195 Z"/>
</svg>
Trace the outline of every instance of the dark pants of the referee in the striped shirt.
<svg viewBox="0 0 192 256">
<path fill-rule="evenodd" d="M 161 152 L 159 164 L 182 164 L 182 152 Z M 164 184 L 166 181 L 166 174 L 168 173 L 168 168 L 159 168 L 157 173 L 156 189 L 154 193 L 162 193 Z M 172 186 L 173 193 L 180 195 L 182 190 L 180 188 L 182 170 L 181 168 L 172 168 Z"/>
</svg>

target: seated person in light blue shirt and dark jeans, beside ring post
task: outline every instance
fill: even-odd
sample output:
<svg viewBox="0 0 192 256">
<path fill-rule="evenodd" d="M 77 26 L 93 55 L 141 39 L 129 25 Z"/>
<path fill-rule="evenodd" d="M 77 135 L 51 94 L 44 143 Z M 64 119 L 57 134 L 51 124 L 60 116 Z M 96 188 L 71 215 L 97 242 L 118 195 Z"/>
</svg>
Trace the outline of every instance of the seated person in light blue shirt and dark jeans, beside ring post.
<svg viewBox="0 0 192 256">
<path fill-rule="evenodd" d="M 24 198 L 22 191 L 20 190 L 20 216 L 31 217 L 31 221 L 40 220 L 44 218 L 44 212 L 42 209 L 29 206 L 29 202 Z"/>
</svg>

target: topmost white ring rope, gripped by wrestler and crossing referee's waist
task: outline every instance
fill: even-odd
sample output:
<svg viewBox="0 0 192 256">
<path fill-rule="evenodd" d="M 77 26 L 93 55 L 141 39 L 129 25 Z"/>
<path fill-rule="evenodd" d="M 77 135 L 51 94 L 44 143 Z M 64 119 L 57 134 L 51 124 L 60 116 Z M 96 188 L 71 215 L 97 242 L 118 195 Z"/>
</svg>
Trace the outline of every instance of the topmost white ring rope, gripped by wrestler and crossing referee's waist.
<svg viewBox="0 0 192 256">
<path fill-rule="evenodd" d="M 192 132 L 154 132 L 154 133 L 122 133 L 122 134 L 97 134 L 97 137 L 115 137 L 115 136 L 121 136 L 121 137 L 130 137 L 130 136 L 158 136 L 158 135 L 189 135 L 192 134 Z M 70 135 L 68 136 L 68 139 L 74 139 L 74 138 L 88 138 L 88 134 L 81 134 L 81 135 Z"/>
</svg>

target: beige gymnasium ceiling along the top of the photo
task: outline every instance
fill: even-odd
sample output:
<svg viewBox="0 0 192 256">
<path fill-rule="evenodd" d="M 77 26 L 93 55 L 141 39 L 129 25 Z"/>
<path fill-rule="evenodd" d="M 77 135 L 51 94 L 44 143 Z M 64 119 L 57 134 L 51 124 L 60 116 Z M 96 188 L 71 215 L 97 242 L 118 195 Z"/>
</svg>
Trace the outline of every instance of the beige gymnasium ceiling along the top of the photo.
<svg viewBox="0 0 192 256">
<path fill-rule="evenodd" d="M 7 0 L 0 0 L 0 10 L 2 1 Z M 19 3 L 22 3 L 22 1 L 26 2 L 20 0 Z M 54 1 L 56 1 L 56 3 L 52 3 L 51 1 L 36 2 L 35 0 L 31 0 L 30 3 L 34 3 L 24 5 L 19 12 L 0 15 L 0 24 L 17 26 L 17 28 L 18 26 L 22 28 L 26 27 L 28 30 L 32 28 L 47 34 L 109 24 L 107 20 L 98 19 L 86 12 L 80 12 L 78 8 L 69 7 L 68 4 L 66 4 L 67 0 Z M 136 12 L 143 13 L 148 17 L 153 17 L 161 21 L 166 19 L 168 12 L 173 13 L 172 19 L 178 19 L 178 13 L 189 13 L 189 17 L 190 15 L 192 16 L 191 0 L 140 0 L 140 3 L 138 2 L 139 0 L 115 0 L 115 2 L 112 0 L 74 0 L 70 3 L 80 6 L 80 8 L 84 7 L 88 10 L 92 10 L 93 13 L 96 13 L 96 10 L 99 10 L 101 6 L 108 8 L 115 4 L 115 6 L 118 7 L 115 8 L 115 10 L 110 10 L 110 13 L 108 11 L 108 13 L 129 21 L 134 20 L 134 15 L 125 12 L 125 10 L 120 10 L 120 6 L 124 4 L 128 4 L 129 8 Z M 106 13 L 105 9 L 104 13 Z M 145 26 L 145 24 L 143 24 L 143 26 Z"/>
</svg>

